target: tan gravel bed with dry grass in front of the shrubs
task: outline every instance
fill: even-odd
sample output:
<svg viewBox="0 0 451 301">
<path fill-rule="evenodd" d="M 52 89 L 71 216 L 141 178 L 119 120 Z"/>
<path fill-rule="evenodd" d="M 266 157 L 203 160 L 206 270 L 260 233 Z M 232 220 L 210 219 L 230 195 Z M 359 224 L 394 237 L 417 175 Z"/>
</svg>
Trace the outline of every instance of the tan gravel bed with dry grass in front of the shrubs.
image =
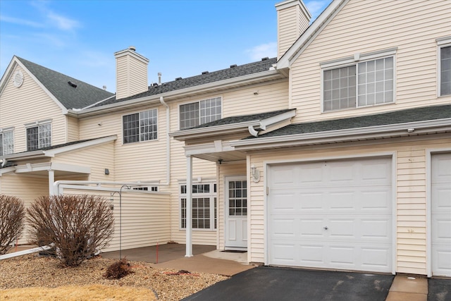
<svg viewBox="0 0 451 301">
<path fill-rule="evenodd" d="M 113 262 L 117 260 L 96 257 L 63 268 L 57 259 L 34 254 L 2 260 L 0 300 L 181 300 L 227 278 L 130 262 L 132 274 L 109 280 L 104 274 Z"/>
</svg>

